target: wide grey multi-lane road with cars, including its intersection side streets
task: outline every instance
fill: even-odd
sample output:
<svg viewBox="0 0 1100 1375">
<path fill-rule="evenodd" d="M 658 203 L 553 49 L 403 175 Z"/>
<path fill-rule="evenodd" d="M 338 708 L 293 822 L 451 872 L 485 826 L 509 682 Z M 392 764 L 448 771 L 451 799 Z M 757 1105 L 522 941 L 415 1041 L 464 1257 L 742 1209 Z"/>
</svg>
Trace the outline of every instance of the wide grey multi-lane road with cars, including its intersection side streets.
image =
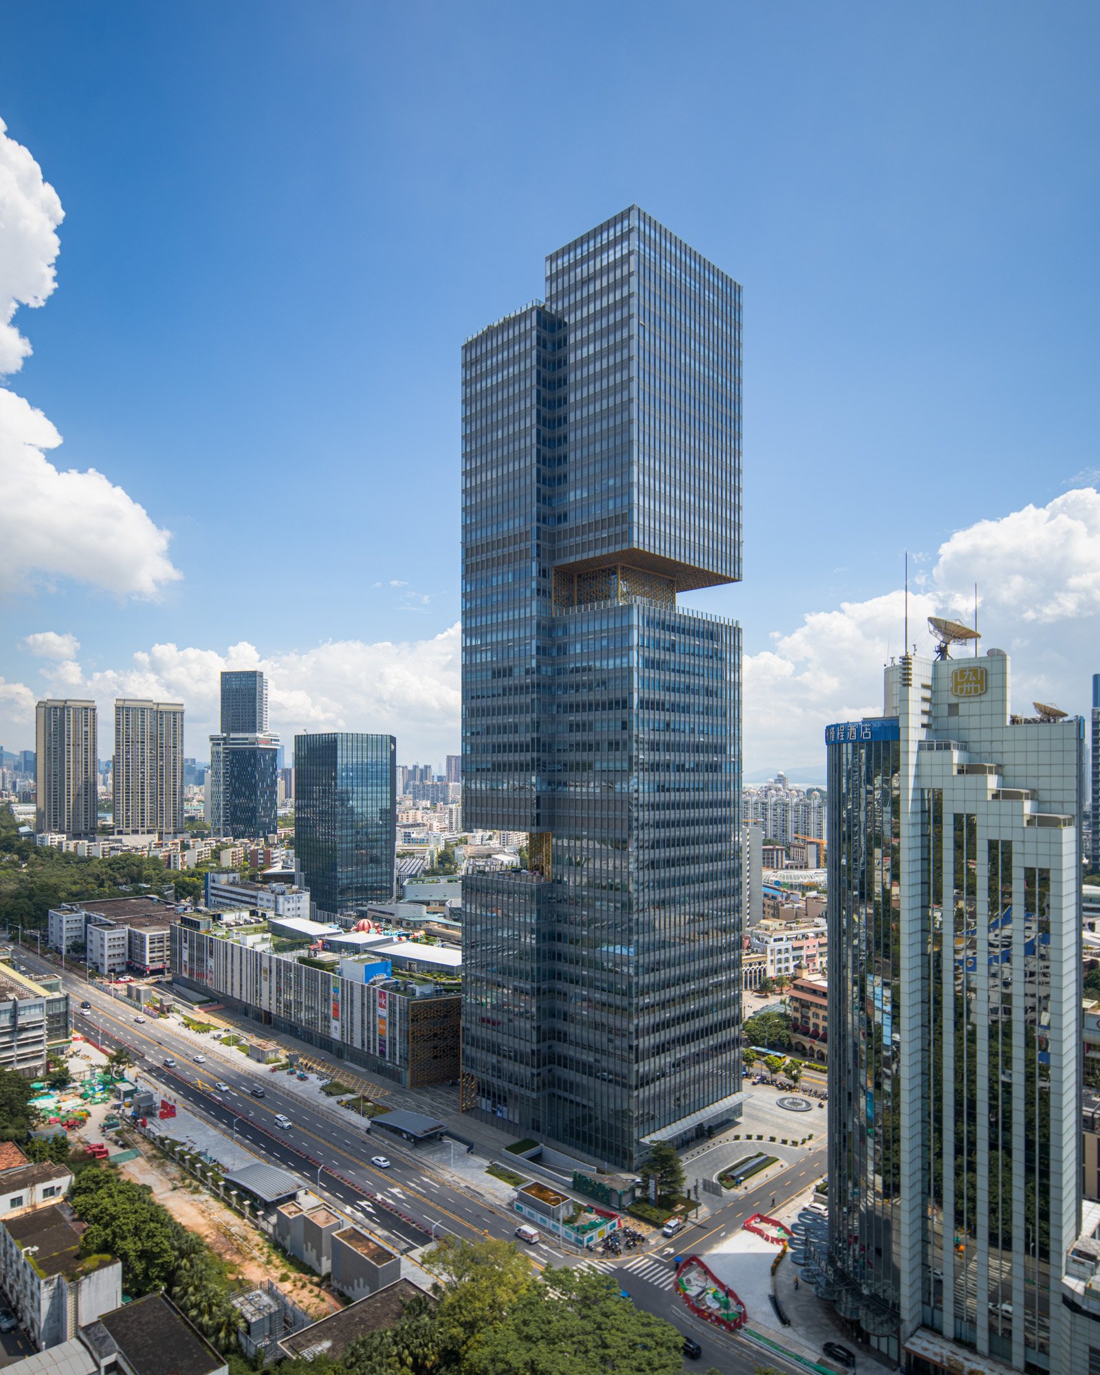
<svg viewBox="0 0 1100 1375">
<path fill-rule="evenodd" d="M 19 952 L 18 958 L 32 974 L 62 972 L 29 952 Z M 447 1233 L 473 1240 L 514 1236 L 513 1214 L 455 1184 L 421 1151 L 390 1133 L 370 1132 L 362 1119 L 336 1106 L 312 1106 L 285 1088 L 282 1074 L 271 1074 L 243 1056 L 236 1063 L 197 1046 L 168 1019 L 136 1022 L 132 1004 L 113 998 L 77 972 L 66 969 L 62 978 L 72 997 L 74 1030 L 107 1050 L 124 1046 L 136 1062 L 139 1082 L 175 1099 L 256 1155 L 298 1174 L 386 1244 L 408 1251 Z M 91 1002 L 89 1012 L 80 1011 L 81 1001 Z M 195 1056 L 202 1056 L 204 1063 L 197 1063 Z M 175 1064 L 166 1066 L 165 1060 Z M 261 1088 L 264 1096 L 254 1097 L 254 1088 Z M 289 1129 L 279 1128 L 279 1115 L 290 1119 Z M 455 1150 L 465 1151 L 465 1145 Z M 389 1167 L 374 1165 L 374 1155 L 385 1156 Z M 703 1250 L 704 1244 L 714 1247 L 748 1216 L 767 1211 L 773 1196 L 780 1202 L 804 1189 L 822 1167 L 824 1145 L 767 1184 L 740 1194 L 704 1224 L 689 1226 L 676 1238 L 675 1248 L 661 1242 L 641 1255 L 584 1261 L 543 1239 L 531 1247 L 532 1260 L 540 1265 L 588 1264 L 613 1273 L 639 1308 L 672 1321 L 700 1343 L 703 1356 L 690 1363 L 692 1368 L 715 1367 L 725 1375 L 752 1375 L 758 1364 L 804 1370 L 694 1319 L 672 1291 L 672 1257 Z"/>
</svg>

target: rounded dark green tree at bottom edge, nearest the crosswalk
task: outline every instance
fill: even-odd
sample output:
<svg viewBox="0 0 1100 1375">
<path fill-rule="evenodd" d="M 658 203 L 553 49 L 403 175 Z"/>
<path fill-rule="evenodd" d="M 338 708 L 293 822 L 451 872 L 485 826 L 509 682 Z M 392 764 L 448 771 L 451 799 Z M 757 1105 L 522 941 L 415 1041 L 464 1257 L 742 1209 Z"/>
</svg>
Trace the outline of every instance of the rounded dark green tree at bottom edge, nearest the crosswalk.
<svg viewBox="0 0 1100 1375">
<path fill-rule="evenodd" d="M 619 1294 L 617 1280 L 593 1270 L 547 1268 L 483 1332 L 463 1375 L 576 1375 L 624 1371 L 674 1375 L 683 1338 Z"/>
</svg>

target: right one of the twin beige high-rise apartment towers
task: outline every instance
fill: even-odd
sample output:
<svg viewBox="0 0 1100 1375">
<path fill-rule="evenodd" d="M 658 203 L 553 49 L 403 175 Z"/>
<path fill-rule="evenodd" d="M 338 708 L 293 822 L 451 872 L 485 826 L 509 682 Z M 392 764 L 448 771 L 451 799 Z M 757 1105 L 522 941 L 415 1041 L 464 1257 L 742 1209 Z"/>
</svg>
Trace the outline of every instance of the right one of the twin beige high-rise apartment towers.
<svg viewBox="0 0 1100 1375">
<path fill-rule="evenodd" d="M 114 830 L 183 832 L 183 703 L 114 703 Z"/>
</svg>

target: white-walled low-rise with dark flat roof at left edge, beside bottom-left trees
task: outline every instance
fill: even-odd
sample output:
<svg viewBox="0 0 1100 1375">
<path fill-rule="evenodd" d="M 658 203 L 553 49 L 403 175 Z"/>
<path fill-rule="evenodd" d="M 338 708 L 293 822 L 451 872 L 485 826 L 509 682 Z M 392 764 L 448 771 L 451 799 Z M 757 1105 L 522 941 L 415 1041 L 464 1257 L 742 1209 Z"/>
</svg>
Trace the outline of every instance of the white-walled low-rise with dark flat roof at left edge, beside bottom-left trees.
<svg viewBox="0 0 1100 1375">
<path fill-rule="evenodd" d="M 81 1228 L 62 1204 L 0 1221 L 0 1275 L 37 1350 L 77 1335 L 122 1302 L 122 1266 L 113 1255 L 81 1255 Z"/>
</svg>

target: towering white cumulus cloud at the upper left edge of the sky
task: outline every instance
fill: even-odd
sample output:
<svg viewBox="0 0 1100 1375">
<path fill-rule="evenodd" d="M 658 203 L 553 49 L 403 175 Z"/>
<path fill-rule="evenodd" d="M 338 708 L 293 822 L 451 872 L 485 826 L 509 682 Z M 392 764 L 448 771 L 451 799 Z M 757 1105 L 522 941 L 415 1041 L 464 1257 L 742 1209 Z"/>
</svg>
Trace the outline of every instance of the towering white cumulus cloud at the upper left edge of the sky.
<svg viewBox="0 0 1100 1375">
<path fill-rule="evenodd" d="M 4 131 L 0 121 L 0 375 L 16 373 L 30 353 L 12 320 L 56 285 L 55 231 L 65 213 L 38 164 Z M 120 597 L 154 597 L 179 579 L 169 532 L 95 469 L 56 468 L 47 454 L 60 441 L 40 410 L 0 388 L 0 594 L 73 578 Z"/>
</svg>

